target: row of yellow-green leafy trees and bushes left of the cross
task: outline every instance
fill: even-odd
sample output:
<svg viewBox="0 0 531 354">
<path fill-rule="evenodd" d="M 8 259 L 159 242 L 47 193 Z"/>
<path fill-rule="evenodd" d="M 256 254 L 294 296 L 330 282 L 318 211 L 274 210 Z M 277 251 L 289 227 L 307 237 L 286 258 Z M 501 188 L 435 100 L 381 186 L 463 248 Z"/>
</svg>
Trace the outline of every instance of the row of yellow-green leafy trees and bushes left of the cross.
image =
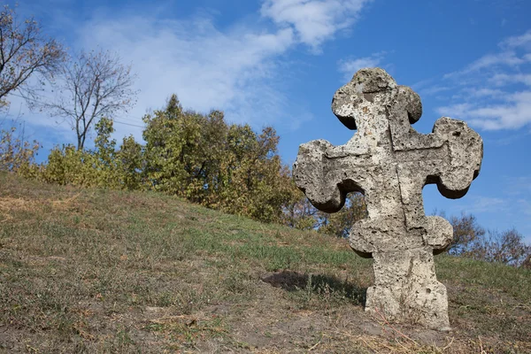
<svg viewBox="0 0 531 354">
<path fill-rule="evenodd" d="M 186 198 L 223 212 L 316 229 L 338 237 L 366 216 L 363 196 L 352 194 L 342 212 L 317 211 L 292 181 L 278 154 L 273 127 L 255 132 L 249 125 L 228 124 L 224 113 L 185 111 L 176 95 L 164 109 L 143 117 L 143 143 L 130 135 L 112 139 L 112 119 L 95 126 L 94 149 L 56 146 L 42 164 L 38 144 L 3 133 L 0 170 L 60 185 L 154 190 Z"/>
</svg>

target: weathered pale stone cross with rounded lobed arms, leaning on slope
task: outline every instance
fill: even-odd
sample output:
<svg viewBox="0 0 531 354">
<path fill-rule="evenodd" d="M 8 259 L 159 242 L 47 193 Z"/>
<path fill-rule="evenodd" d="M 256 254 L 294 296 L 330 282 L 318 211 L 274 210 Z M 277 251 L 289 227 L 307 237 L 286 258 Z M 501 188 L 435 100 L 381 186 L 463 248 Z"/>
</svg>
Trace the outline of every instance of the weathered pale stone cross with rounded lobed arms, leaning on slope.
<svg viewBox="0 0 531 354">
<path fill-rule="evenodd" d="M 350 247 L 373 258 L 374 285 L 366 311 L 386 319 L 450 329 L 446 288 L 435 277 L 434 254 L 450 244 L 450 223 L 426 216 L 422 188 L 435 183 L 448 198 L 465 196 L 480 172 L 483 143 L 466 123 L 443 117 L 419 134 L 419 96 L 380 68 L 362 69 L 335 92 L 332 110 L 357 129 L 349 142 L 300 146 L 294 179 L 312 204 L 338 212 L 349 192 L 365 195 L 368 217 L 350 230 Z"/>
</svg>

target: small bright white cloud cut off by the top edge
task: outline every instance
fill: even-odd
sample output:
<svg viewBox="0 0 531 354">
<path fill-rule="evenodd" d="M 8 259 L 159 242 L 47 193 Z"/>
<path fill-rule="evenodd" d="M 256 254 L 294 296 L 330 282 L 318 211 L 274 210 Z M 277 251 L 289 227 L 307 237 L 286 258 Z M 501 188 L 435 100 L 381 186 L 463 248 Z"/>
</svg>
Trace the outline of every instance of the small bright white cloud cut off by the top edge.
<svg viewBox="0 0 531 354">
<path fill-rule="evenodd" d="M 350 27 L 370 0 L 266 0 L 262 16 L 293 27 L 297 38 L 314 50 L 335 33 Z"/>
</svg>

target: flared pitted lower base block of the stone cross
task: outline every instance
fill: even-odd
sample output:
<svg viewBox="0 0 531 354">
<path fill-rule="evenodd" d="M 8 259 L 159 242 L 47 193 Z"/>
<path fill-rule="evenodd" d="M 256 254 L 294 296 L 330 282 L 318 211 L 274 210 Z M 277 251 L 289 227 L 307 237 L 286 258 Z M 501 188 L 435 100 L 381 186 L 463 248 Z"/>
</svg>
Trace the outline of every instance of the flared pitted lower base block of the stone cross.
<svg viewBox="0 0 531 354">
<path fill-rule="evenodd" d="M 430 247 L 373 252 L 373 258 L 375 283 L 367 289 L 366 312 L 394 322 L 450 330 L 446 287 L 435 277 Z"/>
</svg>

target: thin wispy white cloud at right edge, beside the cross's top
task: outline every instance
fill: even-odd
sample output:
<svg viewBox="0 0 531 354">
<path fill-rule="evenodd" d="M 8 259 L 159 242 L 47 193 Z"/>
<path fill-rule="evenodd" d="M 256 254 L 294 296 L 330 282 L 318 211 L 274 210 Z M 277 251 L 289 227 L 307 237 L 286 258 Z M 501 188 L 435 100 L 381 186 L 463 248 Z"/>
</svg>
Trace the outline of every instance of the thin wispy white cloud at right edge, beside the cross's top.
<svg viewBox="0 0 531 354">
<path fill-rule="evenodd" d="M 531 30 L 505 39 L 498 48 L 444 76 L 456 94 L 437 112 L 485 130 L 519 129 L 531 123 Z"/>
</svg>

